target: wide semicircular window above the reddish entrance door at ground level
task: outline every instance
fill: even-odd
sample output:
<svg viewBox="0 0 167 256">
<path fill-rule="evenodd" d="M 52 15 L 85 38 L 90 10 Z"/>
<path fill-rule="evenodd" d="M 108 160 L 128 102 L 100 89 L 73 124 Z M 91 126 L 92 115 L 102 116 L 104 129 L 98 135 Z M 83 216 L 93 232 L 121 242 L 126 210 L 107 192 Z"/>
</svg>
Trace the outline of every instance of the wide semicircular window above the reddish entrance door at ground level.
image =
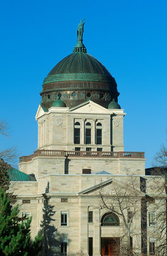
<svg viewBox="0 0 167 256">
<path fill-rule="evenodd" d="M 115 213 L 105 213 L 101 218 L 102 226 L 119 226 L 120 220 Z"/>
</svg>

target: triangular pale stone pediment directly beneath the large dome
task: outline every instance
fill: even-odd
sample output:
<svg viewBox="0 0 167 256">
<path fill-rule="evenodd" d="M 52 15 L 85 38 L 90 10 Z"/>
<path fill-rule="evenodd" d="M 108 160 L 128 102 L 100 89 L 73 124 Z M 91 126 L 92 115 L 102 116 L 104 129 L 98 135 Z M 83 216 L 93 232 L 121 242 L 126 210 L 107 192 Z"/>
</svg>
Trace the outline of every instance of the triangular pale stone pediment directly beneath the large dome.
<svg viewBox="0 0 167 256">
<path fill-rule="evenodd" d="M 80 105 L 77 105 L 75 107 L 71 107 L 69 112 L 74 113 L 92 113 L 92 114 L 109 114 L 108 110 L 105 109 L 105 107 L 101 107 L 95 102 L 92 102 L 91 100 L 86 101 Z"/>
</svg>

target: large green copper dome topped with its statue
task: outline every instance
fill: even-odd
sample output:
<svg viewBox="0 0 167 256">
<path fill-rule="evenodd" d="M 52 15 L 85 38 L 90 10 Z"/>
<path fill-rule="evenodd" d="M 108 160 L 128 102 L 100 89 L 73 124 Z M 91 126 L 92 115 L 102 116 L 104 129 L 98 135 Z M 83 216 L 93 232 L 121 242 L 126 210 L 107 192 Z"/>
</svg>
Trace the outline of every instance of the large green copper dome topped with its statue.
<svg viewBox="0 0 167 256">
<path fill-rule="evenodd" d="M 117 83 L 105 66 L 87 53 L 83 43 L 84 23 L 79 23 L 74 52 L 52 68 L 42 84 L 42 105 L 47 109 L 60 95 L 67 107 L 92 100 L 108 108 L 117 102 Z"/>
</svg>

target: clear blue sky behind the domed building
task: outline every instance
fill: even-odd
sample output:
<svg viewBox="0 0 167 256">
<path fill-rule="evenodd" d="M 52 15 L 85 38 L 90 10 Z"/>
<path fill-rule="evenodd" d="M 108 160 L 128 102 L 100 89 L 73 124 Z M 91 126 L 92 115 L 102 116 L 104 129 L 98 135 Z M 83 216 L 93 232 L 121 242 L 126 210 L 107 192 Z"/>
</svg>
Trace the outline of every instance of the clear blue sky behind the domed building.
<svg viewBox="0 0 167 256">
<path fill-rule="evenodd" d="M 125 151 L 145 151 L 146 167 L 166 142 L 166 1 L 1 1 L 1 117 L 11 137 L 0 148 L 18 154 L 37 149 L 35 113 L 42 81 L 76 44 L 86 19 L 84 44 L 117 81 L 127 115 Z M 18 159 L 16 161 L 16 165 Z"/>
</svg>

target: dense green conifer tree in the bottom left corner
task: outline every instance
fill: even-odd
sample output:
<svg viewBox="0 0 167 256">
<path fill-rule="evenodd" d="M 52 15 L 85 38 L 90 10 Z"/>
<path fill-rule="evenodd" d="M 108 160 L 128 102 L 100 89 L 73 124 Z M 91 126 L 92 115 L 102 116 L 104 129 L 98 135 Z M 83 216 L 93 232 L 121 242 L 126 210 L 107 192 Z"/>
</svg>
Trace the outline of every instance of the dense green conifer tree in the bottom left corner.
<svg viewBox="0 0 167 256">
<path fill-rule="evenodd" d="M 30 239 L 31 218 L 18 218 L 18 206 L 12 208 L 10 198 L 0 188 L 0 255 L 34 256 L 41 249 L 40 235 Z"/>
</svg>

